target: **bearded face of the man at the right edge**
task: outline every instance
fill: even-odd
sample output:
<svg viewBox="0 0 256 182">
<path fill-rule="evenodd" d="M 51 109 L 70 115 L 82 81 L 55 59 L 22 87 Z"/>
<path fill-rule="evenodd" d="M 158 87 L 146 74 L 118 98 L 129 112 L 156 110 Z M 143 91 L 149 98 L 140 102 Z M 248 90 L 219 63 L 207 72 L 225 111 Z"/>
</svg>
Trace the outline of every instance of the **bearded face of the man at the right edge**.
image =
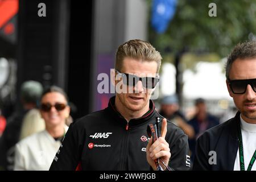
<svg viewBox="0 0 256 182">
<path fill-rule="evenodd" d="M 256 78 L 256 59 L 237 59 L 230 69 L 230 80 L 245 80 Z M 234 103 L 241 112 L 242 118 L 250 123 L 256 123 L 256 93 L 250 85 L 246 86 L 243 94 L 234 94 L 227 82 L 229 95 L 233 97 Z"/>
</svg>

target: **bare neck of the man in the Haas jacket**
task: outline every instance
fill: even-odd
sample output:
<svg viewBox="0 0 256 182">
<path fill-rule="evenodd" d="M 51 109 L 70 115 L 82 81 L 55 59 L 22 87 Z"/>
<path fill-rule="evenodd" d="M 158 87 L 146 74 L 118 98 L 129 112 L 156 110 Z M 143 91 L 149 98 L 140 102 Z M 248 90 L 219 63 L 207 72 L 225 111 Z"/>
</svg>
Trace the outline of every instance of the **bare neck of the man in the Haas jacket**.
<svg viewBox="0 0 256 182">
<path fill-rule="evenodd" d="M 128 109 L 120 101 L 117 100 L 118 98 L 115 97 L 115 109 L 123 116 L 123 118 L 126 119 L 127 122 L 129 122 L 131 119 L 142 117 L 145 113 L 147 113 L 148 110 L 150 110 L 149 101 L 146 106 L 143 107 L 143 109 L 134 111 Z"/>
</svg>

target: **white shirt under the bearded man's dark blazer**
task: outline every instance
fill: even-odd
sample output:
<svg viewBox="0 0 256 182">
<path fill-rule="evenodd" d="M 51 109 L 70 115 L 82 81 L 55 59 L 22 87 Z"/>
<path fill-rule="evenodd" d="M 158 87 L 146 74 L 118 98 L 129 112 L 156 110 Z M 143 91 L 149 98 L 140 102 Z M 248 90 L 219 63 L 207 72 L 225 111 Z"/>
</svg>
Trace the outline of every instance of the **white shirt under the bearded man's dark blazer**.
<svg viewBox="0 0 256 182">
<path fill-rule="evenodd" d="M 240 114 L 241 131 L 243 140 L 243 158 L 245 160 L 245 170 L 247 170 L 250 160 L 256 149 L 256 125 L 245 122 Z M 234 171 L 240 171 L 240 156 L 239 147 L 237 150 L 237 157 L 234 163 Z M 251 171 L 256 171 L 256 161 L 251 168 Z"/>
</svg>

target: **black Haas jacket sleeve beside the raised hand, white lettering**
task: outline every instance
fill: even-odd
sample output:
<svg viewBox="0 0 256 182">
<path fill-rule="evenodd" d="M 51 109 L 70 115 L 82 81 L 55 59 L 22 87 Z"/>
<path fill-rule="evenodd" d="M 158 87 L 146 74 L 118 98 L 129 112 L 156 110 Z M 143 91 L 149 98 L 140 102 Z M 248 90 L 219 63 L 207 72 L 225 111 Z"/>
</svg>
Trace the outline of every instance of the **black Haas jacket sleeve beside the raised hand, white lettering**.
<svg viewBox="0 0 256 182">
<path fill-rule="evenodd" d="M 170 144 L 171 159 L 168 166 L 175 171 L 187 171 L 190 169 L 188 137 L 180 129 L 177 133 L 174 144 Z"/>
</svg>

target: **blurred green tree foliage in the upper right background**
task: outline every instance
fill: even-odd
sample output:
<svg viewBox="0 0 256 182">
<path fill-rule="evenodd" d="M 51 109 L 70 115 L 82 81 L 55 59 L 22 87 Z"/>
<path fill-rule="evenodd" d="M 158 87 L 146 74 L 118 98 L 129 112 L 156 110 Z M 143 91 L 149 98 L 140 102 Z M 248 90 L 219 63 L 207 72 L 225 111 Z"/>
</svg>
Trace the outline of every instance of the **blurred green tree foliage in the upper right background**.
<svg viewBox="0 0 256 182">
<path fill-rule="evenodd" d="M 217 16 L 210 17 L 209 3 L 216 3 Z M 148 0 L 150 6 L 152 1 Z M 239 42 L 256 34 L 256 1 L 177 0 L 176 13 L 164 34 L 151 27 L 149 40 L 164 56 L 188 48 L 191 52 L 214 52 L 225 57 Z"/>
</svg>

